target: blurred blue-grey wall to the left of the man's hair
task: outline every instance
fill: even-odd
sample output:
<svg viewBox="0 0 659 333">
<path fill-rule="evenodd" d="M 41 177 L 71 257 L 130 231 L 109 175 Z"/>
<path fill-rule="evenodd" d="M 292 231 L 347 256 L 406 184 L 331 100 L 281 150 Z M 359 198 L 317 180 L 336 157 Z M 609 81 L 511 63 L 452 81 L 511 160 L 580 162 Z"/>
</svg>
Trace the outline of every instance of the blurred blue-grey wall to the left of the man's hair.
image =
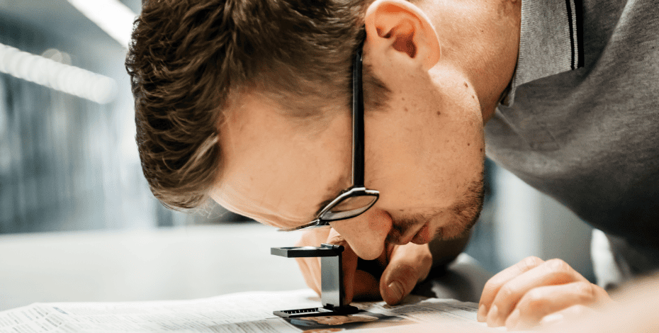
<svg viewBox="0 0 659 333">
<path fill-rule="evenodd" d="M 139 0 L 123 3 L 139 12 Z M 217 205 L 172 212 L 152 196 L 125 55 L 65 0 L 0 1 L 0 234 L 240 219 Z M 112 91 L 81 79 L 82 70 L 113 81 Z M 85 89 L 108 98 L 74 96 Z"/>
</svg>

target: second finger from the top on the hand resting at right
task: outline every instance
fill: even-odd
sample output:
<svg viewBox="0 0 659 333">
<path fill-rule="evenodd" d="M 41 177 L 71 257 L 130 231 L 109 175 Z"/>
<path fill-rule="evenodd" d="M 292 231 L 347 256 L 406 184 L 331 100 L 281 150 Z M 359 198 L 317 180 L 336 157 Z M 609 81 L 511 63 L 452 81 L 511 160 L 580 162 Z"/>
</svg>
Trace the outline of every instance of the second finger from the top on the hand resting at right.
<svg viewBox="0 0 659 333">
<path fill-rule="evenodd" d="M 492 301 L 492 307 L 488 312 L 488 326 L 498 327 L 505 324 L 505 320 L 512 312 L 512 309 L 529 290 L 540 286 L 575 281 L 588 282 L 586 278 L 561 259 L 545 261 L 539 266 L 512 278 L 499 289 L 495 300 Z"/>
</svg>

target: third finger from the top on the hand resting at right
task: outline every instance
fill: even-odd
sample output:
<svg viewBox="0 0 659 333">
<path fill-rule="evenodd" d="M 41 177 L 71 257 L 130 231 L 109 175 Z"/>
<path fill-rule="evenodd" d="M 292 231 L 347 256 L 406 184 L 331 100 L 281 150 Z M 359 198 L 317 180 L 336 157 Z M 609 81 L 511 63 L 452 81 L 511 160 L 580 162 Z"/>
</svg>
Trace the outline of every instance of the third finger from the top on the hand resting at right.
<svg viewBox="0 0 659 333">
<path fill-rule="evenodd" d="M 528 329 L 536 326 L 544 317 L 565 310 L 573 305 L 592 305 L 606 301 L 608 295 L 602 288 L 590 282 L 573 282 L 557 286 L 542 286 L 530 290 L 519 300 L 506 320 L 506 327 Z"/>
</svg>

